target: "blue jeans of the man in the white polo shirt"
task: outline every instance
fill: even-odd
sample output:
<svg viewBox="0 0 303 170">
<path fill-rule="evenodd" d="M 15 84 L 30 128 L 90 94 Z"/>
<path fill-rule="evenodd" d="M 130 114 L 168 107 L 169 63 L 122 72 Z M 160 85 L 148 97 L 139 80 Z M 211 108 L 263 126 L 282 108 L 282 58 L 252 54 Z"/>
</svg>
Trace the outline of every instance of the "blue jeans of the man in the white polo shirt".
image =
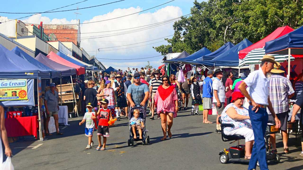
<svg viewBox="0 0 303 170">
<path fill-rule="evenodd" d="M 265 148 L 265 130 L 268 121 L 266 108 L 260 108 L 257 113 L 251 110 L 253 106 L 249 106 L 248 112 L 251 120 L 252 130 L 254 131 L 255 144 L 252 147 L 251 159 L 249 161 L 248 170 L 255 169 L 257 161 L 259 161 L 260 170 L 268 170 L 266 162 Z"/>
</svg>

